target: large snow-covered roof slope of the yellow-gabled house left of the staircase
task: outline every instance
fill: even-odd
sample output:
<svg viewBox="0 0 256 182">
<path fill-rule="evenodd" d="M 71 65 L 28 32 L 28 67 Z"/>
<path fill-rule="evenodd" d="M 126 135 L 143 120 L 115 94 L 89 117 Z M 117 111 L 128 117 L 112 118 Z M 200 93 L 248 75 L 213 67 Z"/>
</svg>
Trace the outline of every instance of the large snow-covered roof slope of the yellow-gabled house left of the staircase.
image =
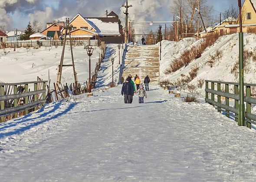
<svg viewBox="0 0 256 182">
<path fill-rule="evenodd" d="M 86 19 L 92 26 L 104 36 L 108 35 L 120 35 L 118 23 L 105 23 L 98 19 Z"/>
</svg>

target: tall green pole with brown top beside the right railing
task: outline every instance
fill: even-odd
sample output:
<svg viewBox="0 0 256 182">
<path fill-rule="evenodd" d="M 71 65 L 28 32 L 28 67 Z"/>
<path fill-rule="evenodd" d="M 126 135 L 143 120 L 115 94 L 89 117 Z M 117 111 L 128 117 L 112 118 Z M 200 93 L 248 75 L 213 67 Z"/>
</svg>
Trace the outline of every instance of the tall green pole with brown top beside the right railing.
<svg viewBox="0 0 256 182">
<path fill-rule="evenodd" d="M 243 25 L 242 25 L 242 7 L 241 0 L 238 0 L 239 7 L 239 112 L 238 112 L 238 126 L 246 126 L 244 120 L 244 78 L 243 78 Z"/>
</svg>

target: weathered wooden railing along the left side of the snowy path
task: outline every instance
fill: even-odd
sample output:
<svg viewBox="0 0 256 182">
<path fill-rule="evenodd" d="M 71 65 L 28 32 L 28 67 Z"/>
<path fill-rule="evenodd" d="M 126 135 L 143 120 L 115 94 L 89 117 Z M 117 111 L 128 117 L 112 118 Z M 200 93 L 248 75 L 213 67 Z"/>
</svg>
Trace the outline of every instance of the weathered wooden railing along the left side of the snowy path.
<svg viewBox="0 0 256 182">
<path fill-rule="evenodd" d="M 46 103 L 47 81 L 0 84 L 0 122 L 13 119 Z M 34 91 L 30 91 L 32 88 Z"/>
</svg>

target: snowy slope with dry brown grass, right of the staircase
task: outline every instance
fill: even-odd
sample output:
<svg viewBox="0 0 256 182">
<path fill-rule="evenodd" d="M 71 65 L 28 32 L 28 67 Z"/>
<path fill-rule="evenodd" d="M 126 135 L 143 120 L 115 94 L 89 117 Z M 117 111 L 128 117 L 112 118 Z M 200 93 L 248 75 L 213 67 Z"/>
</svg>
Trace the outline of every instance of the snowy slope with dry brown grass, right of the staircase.
<svg viewBox="0 0 256 182">
<path fill-rule="evenodd" d="M 219 80 L 219 81 L 238 81 L 238 58 L 239 58 L 239 39 L 238 34 L 232 34 L 220 37 L 213 46 L 207 48 L 200 58 L 193 60 L 186 68 L 183 67 L 171 74 L 165 74 L 175 58 L 180 56 L 189 42 L 193 45 L 199 45 L 200 41 L 195 42 L 193 39 L 184 39 L 180 42 L 163 41 L 161 81 L 169 80 L 174 83 L 181 81 L 182 78 L 189 75 L 191 68 L 198 67 L 197 76 L 189 83 L 197 88 L 197 92 L 204 94 L 204 85 L 202 89 L 197 87 L 198 81 Z M 244 54 L 245 54 L 245 82 L 256 83 L 256 35 L 244 34 Z M 192 45 L 191 45 L 192 46 Z"/>
</svg>

